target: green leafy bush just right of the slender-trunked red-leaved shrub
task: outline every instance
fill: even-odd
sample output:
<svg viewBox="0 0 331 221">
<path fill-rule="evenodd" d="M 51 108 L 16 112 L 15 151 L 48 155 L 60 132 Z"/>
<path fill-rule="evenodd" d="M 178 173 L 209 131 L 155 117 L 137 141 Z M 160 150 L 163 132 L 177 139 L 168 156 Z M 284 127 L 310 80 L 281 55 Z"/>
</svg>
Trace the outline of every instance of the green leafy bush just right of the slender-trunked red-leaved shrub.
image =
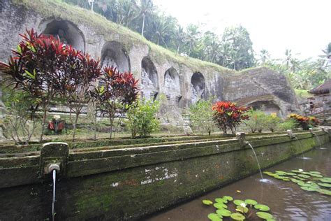
<svg viewBox="0 0 331 221">
<path fill-rule="evenodd" d="M 140 138 L 149 136 L 159 130 L 160 122 L 156 119 L 159 111 L 159 101 L 137 101 L 126 113 L 128 117 L 131 135 L 134 138 L 137 134 Z"/>
</svg>

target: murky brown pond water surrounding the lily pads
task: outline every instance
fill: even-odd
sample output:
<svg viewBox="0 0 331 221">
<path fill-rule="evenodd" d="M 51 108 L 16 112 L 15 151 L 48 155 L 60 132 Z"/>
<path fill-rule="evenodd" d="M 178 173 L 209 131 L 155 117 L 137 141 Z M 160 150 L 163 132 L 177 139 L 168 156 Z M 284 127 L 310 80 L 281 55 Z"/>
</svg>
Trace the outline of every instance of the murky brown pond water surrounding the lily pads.
<svg viewBox="0 0 331 221">
<path fill-rule="evenodd" d="M 331 143 L 265 171 L 289 172 L 293 169 L 319 171 L 323 176 L 331 177 Z M 307 192 L 296 183 L 277 180 L 267 175 L 264 177 L 268 179 L 267 183 L 261 183 L 260 174 L 256 173 L 188 203 L 156 214 L 147 220 L 208 220 L 207 215 L 215 213 L 216 208 L 212 205 L 205 206 L 201 201 L 203 199 L 214 201 L 215 198 L 223 196 L 242 200 L 254 199 L 259 204 L 270 206 L 270 213 L 276 220 L 331 220 L 331 196 Z M 331 190 L 331 188 L 326 189 Z"/>
</svg>

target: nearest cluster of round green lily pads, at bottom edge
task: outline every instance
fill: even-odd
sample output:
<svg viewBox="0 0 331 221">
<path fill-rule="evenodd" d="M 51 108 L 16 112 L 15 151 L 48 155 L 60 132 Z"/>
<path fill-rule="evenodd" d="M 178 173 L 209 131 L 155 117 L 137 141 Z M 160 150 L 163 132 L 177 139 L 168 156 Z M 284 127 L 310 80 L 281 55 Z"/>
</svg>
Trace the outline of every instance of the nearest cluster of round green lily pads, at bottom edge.
<svg viewBox="0 0 331 221">
<path fill-rule="evenodd" d="M 216 208 L 216 213 L 209 213 L 207 218 L 212 221 L 221 221 L 225 218 L 231 218 L 232 220 L 256 220 L 256 216 L 263 220 L 274 220 L 274 217 L 270 213 L 270 207 L 258 204 L 253 199 L 233 199 L 230 196 L 224 196 L 222 198 L 216 198 L 215 203 L 209 199 L 204 199 L 203 204 L 206 206 L 213 205 Z M 230 210 L 235 208 L 234 211 Z"/>
</svg>

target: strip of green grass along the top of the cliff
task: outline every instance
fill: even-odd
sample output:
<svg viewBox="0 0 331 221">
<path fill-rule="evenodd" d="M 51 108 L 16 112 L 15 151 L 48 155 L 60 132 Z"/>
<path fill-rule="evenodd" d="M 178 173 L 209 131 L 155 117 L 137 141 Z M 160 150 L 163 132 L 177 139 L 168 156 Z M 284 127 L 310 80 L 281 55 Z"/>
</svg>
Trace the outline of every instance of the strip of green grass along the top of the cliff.
<svg viewBox="0 0 331 221">
<path fill-rule="evenodd" d="M 163 59 L 171 59 L 180 65 L 185 64 L 193 69 L 193 71 L 204 71 L 204 73 L 219 71 L 220 73 L 235 73 L 235 71 L 226 69 L 218 64 L 205 62 L 200 59 L 191 57 L 183 57 L 177 53 L 156 45 L 146 38 L 142 37 L 135 31 L 118 25 L 107 20 L 105 17 L 91 13 L 89 10 L 64 3 L 61 0 L 12 0 L 17 6 L 24 6 L 29 11 L 35 11 L 43 15 L 43 17 L 61 17 L 64 20 L 69 20 L 75 24 L 84 24 L 86 27 L 93 27 L 96 34 L 102 35 L 105 41 L 113 41 L 121 39 L 124 48 L 128 50 L 133 45 L 147 45 L 149 55 L 156 59 L 156 62 L 163 64 Z"/>
</svg>

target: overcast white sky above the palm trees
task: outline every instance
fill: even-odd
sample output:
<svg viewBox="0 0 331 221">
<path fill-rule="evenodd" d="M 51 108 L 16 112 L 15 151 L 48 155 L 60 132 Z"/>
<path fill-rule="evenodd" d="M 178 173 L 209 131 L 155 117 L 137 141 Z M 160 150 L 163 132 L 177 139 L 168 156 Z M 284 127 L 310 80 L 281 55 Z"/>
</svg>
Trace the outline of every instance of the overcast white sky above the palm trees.
<svg viewBox="0 0 331 221">
<path fill-rule="evenodd" d="M 201 24 L 222 34 L 225 27 L 241 24 L 250 34 L 256 54 L 272 58 L 316 59 L 331 42 L 331 0 L 153 0 L 154 5 L 179 24 Z"/>
</svg>

